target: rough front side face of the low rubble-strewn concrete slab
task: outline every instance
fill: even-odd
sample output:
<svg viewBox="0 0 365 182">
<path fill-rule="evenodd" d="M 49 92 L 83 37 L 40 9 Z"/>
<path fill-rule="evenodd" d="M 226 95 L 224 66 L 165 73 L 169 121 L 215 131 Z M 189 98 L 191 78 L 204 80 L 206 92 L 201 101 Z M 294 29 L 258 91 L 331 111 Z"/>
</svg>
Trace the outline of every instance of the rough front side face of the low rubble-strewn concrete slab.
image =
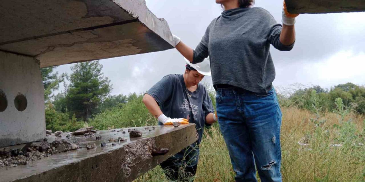
<svg viewBox="0 0 365 182">
<path fill-rule="evenodd" d="M 131 182 L 195 142 L 195 132 L 195 124 L 190 124 L 169 133 L 139 139 L 118 149 L 93 154 L 67 165 L 15 179 L 12 182 L 61 182 L 65 179 L 77 182 Z M 168 148 L 170 151 L 168 154 L 152 157 L 151 150 L 160 148 Z"/>
</svg>

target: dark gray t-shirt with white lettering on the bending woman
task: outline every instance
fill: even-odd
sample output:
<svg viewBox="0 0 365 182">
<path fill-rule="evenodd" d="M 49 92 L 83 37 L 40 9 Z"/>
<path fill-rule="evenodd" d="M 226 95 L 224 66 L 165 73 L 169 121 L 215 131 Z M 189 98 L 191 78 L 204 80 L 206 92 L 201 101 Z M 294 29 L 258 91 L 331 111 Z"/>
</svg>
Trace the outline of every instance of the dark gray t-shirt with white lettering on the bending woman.
<svg viewBox="0 0 365 182">
<path fill-rule="evenodd" d="M 187 149 L 182 150 L 174 157 L 185 158 L 189 161 L 188 165 L 195 165 L 199 157 L 199 143 L 203 136 L 205 117 L 209 113 L 214 113 L 212 101 L 207 90 L 202 84 L 190 96 L 187 95 L 184 77 L 181 74 L 170 74 L 164 76 L 157 82 L 147 94 L 152 96 L 161 108 L 161 111 L 170 118 L 186 118 L 189 123 L 196 124 L 199 139 Z M 189 94 L 191 92 L 189 91 Z M 162 123 L 158 122 L 159 125 Z"/>
</svg>

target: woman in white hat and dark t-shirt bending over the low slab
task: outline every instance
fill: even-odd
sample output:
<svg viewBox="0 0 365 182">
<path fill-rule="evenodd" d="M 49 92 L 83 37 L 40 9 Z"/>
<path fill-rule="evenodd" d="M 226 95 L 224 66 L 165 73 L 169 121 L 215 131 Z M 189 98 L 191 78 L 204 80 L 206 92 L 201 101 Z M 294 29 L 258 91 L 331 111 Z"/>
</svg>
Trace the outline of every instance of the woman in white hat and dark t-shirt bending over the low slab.
<svg viewBox="0 0 365 182">
<path fill-rule="evenodd" d="M 193 181 L 204 126 L 217 120 L 208 92 L 199 84 L 204 76 L 211 76 L 209 60 L 200 65 L 187 62 L 185 68 L 184 74 L 162 78 L 143 97 L 143 103 L 159 125 L 173 122 L 196 125 L 197 141 L 160 164 L 166 177 L 173 181 Z"/>
</svg>

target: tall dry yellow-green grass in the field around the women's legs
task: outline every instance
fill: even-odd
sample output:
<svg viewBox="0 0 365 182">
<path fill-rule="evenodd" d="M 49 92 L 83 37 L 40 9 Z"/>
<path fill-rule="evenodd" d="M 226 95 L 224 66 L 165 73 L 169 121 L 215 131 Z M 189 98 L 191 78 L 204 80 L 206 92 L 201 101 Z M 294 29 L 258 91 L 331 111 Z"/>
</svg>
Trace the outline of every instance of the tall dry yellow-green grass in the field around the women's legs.
<svg viewBox="0 0 365 182">
<path fill-rule="evenodd" d="M 316 114 L 283 108 L 281 128 L 283 181 L 365 182 L 365 118 L 337 113 Z M 234 181 L 226 145 L 217 124 L 205 131 L 196 182 Z M 260 180 L 259 180 L 260 181 Z M 168 182 L 159 166 L 135 182 Z"/>
</svg>

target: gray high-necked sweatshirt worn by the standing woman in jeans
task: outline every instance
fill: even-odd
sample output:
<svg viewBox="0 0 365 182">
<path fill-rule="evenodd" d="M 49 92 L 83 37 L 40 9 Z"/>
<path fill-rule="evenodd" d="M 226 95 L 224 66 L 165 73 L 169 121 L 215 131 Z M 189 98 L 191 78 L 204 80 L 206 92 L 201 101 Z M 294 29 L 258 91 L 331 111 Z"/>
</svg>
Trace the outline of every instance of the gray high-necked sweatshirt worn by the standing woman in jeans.
<svg viewBox="0 0 365 182">
<path fill-rule="evenodd" d="M 210 57 L 213 85 L 229 84 L 252 92 L 272 88 L 275 67 L 270 44 L 290 51 L 280 40 L 281 24 L 263 8 L 236 8 L 215 18 L 194 50 L 193 64 Z"/>
</svg>

